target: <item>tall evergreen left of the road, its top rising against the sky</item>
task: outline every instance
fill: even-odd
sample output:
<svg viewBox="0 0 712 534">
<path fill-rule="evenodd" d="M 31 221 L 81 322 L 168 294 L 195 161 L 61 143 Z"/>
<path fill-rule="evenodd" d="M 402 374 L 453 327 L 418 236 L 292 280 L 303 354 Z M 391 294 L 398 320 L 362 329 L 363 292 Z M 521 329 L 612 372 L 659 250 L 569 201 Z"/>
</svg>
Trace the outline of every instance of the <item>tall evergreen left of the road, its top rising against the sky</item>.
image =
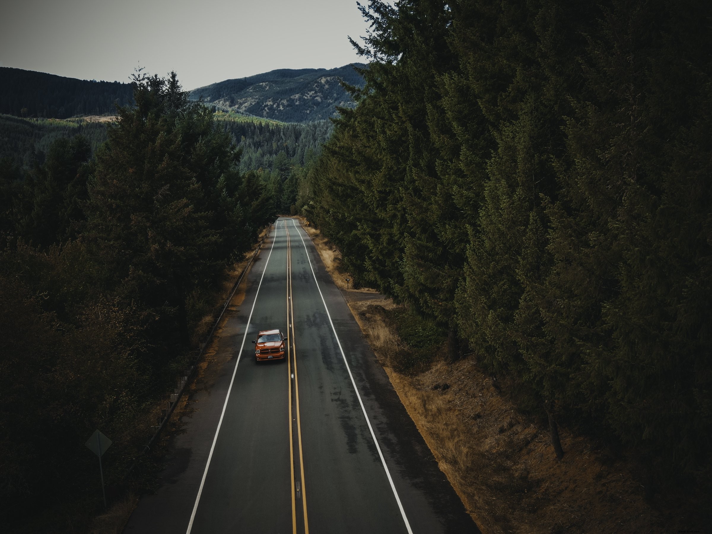
<svg viewBox="0 0 712 534">
<path fill-rule="evenodd" d="M 154 310 L 164 342 L 173 323 L 187 345 L 187 295 L 256 229 L 236 196 L 239 153 L 211 111 L 189 103 L 174 73 L 136 76 L 135 87 L 96 157 L 89 235 L 119 293 Z"/>
</svg>

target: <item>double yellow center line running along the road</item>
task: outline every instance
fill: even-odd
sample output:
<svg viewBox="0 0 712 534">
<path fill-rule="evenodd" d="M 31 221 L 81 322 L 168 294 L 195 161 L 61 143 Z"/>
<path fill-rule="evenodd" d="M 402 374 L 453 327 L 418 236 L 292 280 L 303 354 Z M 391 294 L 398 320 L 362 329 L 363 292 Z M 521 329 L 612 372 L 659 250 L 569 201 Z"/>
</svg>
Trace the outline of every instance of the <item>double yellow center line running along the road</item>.
<svg viewBox="0 0 712 534">
<path fill-rule="evenodd" d="M 287 372 L 289 382 L 289 458 L 290 471 L 292 477 L 292 532 L 297 534 L 297 499 L 300 498 L 303 507 L 304 533 L 309 534 L 309 523 L 307 520 L 307 497 L 304 486 L 304 456 L 302 450 L 302 426 L 299 417 L 299 386 L 297 376 L 297 349 L 294 341 L 294 302 L 292 298 L 292 246 L 289 237 L 287 221 L 284 221 L 284 229 L 287 234 Z M 293 370 L 293 371 L 292 371 Z M 292 382 L 294 386 L 292 387 Z M 294 392 L 294 395 L 292 395 Z M 292 407 L 294 406 L 294 410 Z M 296 418 L 293 416 L 296 412 Z M 300 481 L 295 481 L 295 457 L 294 457 L 294 426 L 296 423 L 297 443 L 299 448 L 299 471 Z"/>
</svg>

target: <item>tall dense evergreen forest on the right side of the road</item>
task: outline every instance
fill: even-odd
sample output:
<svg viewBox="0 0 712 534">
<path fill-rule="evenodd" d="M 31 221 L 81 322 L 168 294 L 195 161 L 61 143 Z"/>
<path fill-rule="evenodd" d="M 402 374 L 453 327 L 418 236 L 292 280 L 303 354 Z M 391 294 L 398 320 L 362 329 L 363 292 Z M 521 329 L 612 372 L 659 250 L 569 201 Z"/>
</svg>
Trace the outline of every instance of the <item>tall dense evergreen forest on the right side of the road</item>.
<svg viewBox="0 0 712 534">
<path fill-rule="evenodd" d="M 298 209 L 520 406 L 710 480 L 712 4 L 372 0 Z"/>
</svg>

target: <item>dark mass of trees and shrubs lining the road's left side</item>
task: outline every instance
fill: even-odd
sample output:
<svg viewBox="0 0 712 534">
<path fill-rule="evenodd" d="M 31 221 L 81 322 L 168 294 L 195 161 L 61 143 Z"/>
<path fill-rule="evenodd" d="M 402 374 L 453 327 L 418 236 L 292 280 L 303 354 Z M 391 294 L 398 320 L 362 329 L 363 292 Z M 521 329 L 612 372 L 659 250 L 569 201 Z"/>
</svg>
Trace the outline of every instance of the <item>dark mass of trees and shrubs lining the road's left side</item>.
<svg viewBox="0 0 712 534">
<path fill-rule="evenodd" d="M 94 152 L 75 135 L 41 164 L 0 160 L 6 528 L 86 530 L 76 521 L 101 493 L 84 442 L 97 428 L 110 436 L 105 477 L 121 483 L 226 268 L 276 216 L 258 174 L 239 169 L 234 137 L 174 74 L 132 87 Z"/>
</svg>

